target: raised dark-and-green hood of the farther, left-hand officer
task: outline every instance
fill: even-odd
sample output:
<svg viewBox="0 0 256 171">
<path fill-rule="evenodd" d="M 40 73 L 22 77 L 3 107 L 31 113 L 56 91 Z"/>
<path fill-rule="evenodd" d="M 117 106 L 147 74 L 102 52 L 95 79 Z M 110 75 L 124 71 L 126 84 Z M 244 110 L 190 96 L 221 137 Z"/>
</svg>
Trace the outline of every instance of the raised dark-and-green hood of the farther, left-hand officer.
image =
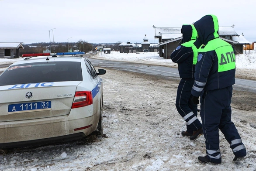
<svg viewBox="0 0 256 171">
<path fill-rule="evenodd" d="M 181 27 L 181 33 L 182 43 L 197 39 L 197 30 L 194 25 L 183 24 Z"/>
</svg>

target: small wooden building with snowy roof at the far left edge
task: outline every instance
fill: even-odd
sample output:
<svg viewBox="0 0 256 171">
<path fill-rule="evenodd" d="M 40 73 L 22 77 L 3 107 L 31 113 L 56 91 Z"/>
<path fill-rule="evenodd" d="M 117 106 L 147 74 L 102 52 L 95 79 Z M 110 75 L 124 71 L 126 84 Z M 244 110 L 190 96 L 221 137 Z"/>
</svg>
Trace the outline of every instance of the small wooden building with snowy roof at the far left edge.
<svg viewBox="0 0 256 171">
<path fill-rule="evenodd" d="M 24 49 L 21 42 L 0 42 L 0 58 L 19 58 L 20 49 Z"/>
</svg>

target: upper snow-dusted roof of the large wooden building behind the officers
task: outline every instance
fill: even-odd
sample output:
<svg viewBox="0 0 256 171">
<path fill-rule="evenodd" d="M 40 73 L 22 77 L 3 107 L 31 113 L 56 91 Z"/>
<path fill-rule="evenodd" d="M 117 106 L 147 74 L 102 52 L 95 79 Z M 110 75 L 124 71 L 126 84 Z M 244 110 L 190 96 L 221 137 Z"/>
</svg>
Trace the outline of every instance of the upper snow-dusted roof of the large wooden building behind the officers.
<svg viewBox="0 0 256 171">
<path fill-rule="evenodd" d="M 181 27 L 156 27 L 155 37 L 163 34 L 181 34 Z M 219 27 L 219 35 L 238 36 L 233 27 Z"/>
</svg>

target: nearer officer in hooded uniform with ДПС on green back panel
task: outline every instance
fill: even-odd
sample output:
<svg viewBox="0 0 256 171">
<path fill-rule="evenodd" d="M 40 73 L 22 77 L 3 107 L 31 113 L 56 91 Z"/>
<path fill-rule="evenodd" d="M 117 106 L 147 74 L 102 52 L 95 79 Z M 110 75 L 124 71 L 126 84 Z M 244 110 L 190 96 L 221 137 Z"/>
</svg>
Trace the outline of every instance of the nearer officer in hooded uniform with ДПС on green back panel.
<svg viewBox="0 0 256 171">
<path fill-rule="evenodd" d="M 199 103 L 206 145 L 206 156 L 198 157 L 204 163 L 221 163 L 219 129 L 235 154 L 233 161 L 246 156 L 246 147 L 231 121 L 232 85 L 235 84 L 235 51 L 231 44 L 218 35 L 218 19 L 206 15 L 194 23 L 198 38 L 195 82 L 192 101 Z"/>
</svg>

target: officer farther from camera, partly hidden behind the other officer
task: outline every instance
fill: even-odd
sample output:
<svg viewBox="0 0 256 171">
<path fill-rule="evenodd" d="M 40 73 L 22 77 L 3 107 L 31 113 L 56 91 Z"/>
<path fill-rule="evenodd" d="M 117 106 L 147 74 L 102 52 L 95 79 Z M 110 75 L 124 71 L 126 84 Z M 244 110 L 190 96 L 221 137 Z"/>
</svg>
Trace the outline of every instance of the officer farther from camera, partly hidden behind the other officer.
<svg viewBox="0 0 256 171">
<path fill-rule="evenodd" d="M 176 96 L 176 109 L 187 122 L 187 130 L 182 131 L 181 134 L 194 140 L 203 133 L 202 124 L 197 119 L 197 105 L 191 101 L 191 89 L 194 84 L 195 64 L 197 62 L 197 48 L 194 45 L 197 31 L 194 25 L 184 24 L 181 33 L 182 44 L 171 54 L 172 61 L 178 64 L 181 78 Z"/>
</svg>

